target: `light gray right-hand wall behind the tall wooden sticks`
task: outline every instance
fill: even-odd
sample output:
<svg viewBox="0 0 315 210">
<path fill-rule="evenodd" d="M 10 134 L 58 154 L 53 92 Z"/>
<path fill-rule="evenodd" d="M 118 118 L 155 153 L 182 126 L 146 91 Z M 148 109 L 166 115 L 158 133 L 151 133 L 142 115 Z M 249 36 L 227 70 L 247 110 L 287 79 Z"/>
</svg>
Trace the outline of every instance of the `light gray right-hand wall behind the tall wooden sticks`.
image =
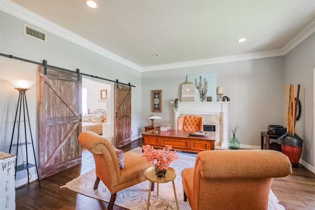
<svg viewBox="0 0 315 210">
<path fill-rule="evenodd" d="M 295 133 L 303 140 L 302 160 L 314 163 L 314 69 L 315 33 L 284 56 L 284 82 L 288 86 L 301 85 L 299 99 L 302 113 L 296 121 Z"/>
</svg>

